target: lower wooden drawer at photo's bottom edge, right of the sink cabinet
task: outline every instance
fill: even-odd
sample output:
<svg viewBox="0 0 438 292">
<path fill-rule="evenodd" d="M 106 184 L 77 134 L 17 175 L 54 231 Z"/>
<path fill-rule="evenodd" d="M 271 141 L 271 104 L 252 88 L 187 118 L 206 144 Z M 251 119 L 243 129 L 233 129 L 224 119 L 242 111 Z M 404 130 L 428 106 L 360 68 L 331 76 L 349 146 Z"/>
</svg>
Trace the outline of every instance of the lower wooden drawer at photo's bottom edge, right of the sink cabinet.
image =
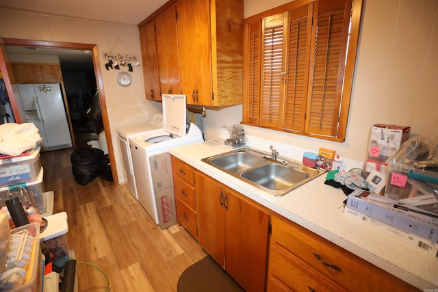
<svg viewBox="0 0 438 292">
<path fill-rule="evenodd" d="M 275 244 L 270 248 L 268 291 L 344 291 Z"/>
</svg>

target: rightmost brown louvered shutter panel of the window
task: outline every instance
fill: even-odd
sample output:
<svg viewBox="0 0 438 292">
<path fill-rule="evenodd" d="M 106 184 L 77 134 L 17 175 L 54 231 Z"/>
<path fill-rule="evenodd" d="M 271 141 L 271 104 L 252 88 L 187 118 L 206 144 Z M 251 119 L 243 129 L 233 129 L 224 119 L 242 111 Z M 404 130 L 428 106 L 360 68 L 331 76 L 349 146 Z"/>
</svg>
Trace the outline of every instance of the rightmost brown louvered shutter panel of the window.
<svg viewBox="0 0 438 292">
<path fill-rule="evenodd" d="M 312 52 L 308 133 L 336 137 L 352 0 L 320 0 Z"/>
</svg>

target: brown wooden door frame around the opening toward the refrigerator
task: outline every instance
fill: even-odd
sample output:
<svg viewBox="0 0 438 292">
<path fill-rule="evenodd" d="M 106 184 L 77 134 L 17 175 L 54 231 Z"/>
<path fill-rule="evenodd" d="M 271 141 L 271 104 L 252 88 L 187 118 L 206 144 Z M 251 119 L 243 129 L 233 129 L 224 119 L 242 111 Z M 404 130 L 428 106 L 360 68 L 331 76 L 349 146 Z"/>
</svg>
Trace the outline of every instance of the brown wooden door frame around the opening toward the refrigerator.
<svg viewBox="0 0 438 292">
<path fill-rule="evenodd" d="M 16 117 L 16 122 L 21 123 L 20 116 L 18 114 L 18 107 L 16 104 L 14 92 L 12 92 L 12 83 L 15 83 L 14 72 L 10 64 L 9 57 L 6 53 L 5 46 L 21 46 L 21 47 L 39 47 L 49 49 L 70 49 L 70 50 L 87 50 L 92 51 L 92 59 L 94 66 L 94 75 L 96 77 L 97 92 L 99 94 L 99 103 L 101 104 L 101 114 L 103 120 L 103 129 L 105 130 L 105 137 L 107 140 L 108 154 L 110 156 L 110 163 L 112 165 L 112 177 L 114 183 L 118 185 L 118 176 L 116 169 L 116 161 L 114 159 L 114 148 L 112 145 L 110 123 L 108 121 L 107 106 L 105 101 L 105 92 L 103 90 L 103 79 L 101 72 L 101 65 L 99 62 L 99 52 L 97 51 L 97 44 L 81 44 L 75 42 L 51 42 L 45 40 L 23 40 L 18 38 L 0 38 L 0 69 L 5 81 L 6 90 Z"/>
</svg>

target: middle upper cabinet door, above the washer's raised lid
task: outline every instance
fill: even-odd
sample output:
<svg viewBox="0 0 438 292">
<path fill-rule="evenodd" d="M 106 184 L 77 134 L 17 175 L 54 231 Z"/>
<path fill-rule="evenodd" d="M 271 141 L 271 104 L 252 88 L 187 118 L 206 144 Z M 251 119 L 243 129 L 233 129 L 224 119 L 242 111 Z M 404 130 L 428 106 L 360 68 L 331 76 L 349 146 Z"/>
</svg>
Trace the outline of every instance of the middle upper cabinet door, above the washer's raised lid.
<svg viewBox="0 0 438 292">
<path fill-rule="evenodd" d="M 170 6 L 155 18 L 155 37 L 162 93 L 180 94 L 177 11 Z"/>
</svg>

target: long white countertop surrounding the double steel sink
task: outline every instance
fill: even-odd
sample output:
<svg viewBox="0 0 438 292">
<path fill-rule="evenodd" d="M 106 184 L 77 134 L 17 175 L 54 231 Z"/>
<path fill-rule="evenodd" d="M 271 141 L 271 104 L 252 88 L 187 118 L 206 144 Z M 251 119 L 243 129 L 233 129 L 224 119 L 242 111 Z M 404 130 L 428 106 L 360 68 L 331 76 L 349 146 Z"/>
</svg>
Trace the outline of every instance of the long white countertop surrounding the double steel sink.
<svg viewBox="0 0 438 292">
<path fill-rule="evenodd" d="M 344 217 L 346 195 L 324 185 L 325 175 L 275 197 L 201 161 L 233 150 L 222 140 L 171 148 L 171 155 L 235 189 L 244 196 L 283 215 L 313 233 L 339 245 L 418 289 L 438 288 L 438 258 L 390 235 Z"/>
</svg>

